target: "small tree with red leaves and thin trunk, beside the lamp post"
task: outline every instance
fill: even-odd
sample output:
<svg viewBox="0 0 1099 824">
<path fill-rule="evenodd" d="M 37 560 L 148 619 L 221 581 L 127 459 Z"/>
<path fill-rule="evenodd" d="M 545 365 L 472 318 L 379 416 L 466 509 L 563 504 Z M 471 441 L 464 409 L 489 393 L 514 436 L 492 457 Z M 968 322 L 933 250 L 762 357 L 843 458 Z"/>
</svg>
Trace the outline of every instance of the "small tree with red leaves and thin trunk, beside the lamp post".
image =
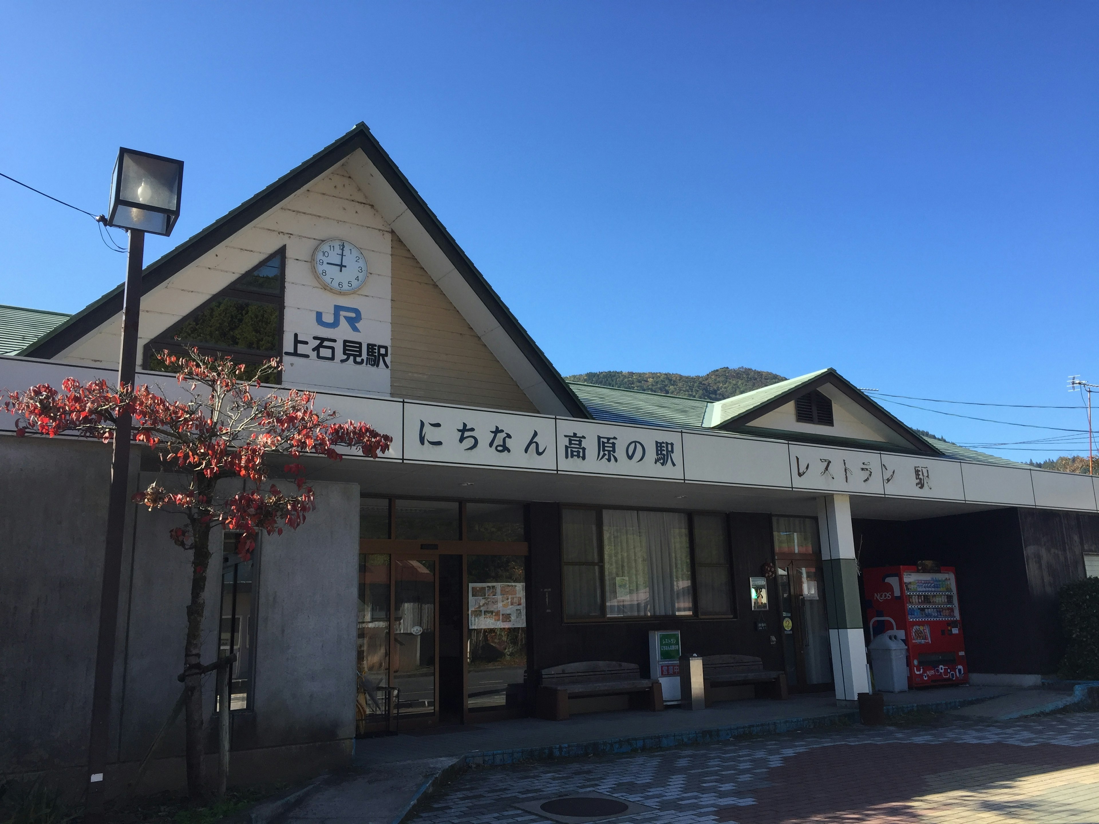
<svg viewBox="0 0 1099 824">
<path fill-rule="evenodd" d="M 176 512 L 186 521 L 170 530 L 169 537 L 191 553 L 184 645 L 187 787 L 191 798 L 199 799 L 206 794 L 200 672 L 211 532 L 221 527 L 240 533 L 236 552 L 247 560 L 260 530 L 268 535 L 281 534 L 284 525 L 295 530 L 314 508 L 313 490 L 297 460 L 282 467 L 295 478 L 295 492 L 286 494 L 274 483 L 267 486 L 276 456 L 323 455 L 340 460 L 336 448 L 349 447 L 376 458 L 389 449 L 392 437 L 365 423 L 337 423 L 333 411 L 314 411 L 313 392 L 286 389 L 257 396 L 264 380 L 281 370 L 277 359 L 245 367 L 227 357 L 203 356 L 198 349 L 186 356 L 164 352 L 159 358 L 178 372 L 182 389 L 176 400 L 147 386 L 113 388 L 101 379 L 81 385 L 67 378 L 60 392 L 45 383 L 12 392 L 4 409 L 16 415 L 20 436 L 73 434 L 103 443 L 111 443 L 119 417 L 130 414 L 133 438 L 152 449 L 176 481 L 166 487 L 157 480 L 135 494 L 134 501 L 149 510 Z M 247 380 L 246 369 L 252 372 Z M 218 481 L 225 478 L 243 478 L 244 488 L 219 494 Z"/>
</svg>

